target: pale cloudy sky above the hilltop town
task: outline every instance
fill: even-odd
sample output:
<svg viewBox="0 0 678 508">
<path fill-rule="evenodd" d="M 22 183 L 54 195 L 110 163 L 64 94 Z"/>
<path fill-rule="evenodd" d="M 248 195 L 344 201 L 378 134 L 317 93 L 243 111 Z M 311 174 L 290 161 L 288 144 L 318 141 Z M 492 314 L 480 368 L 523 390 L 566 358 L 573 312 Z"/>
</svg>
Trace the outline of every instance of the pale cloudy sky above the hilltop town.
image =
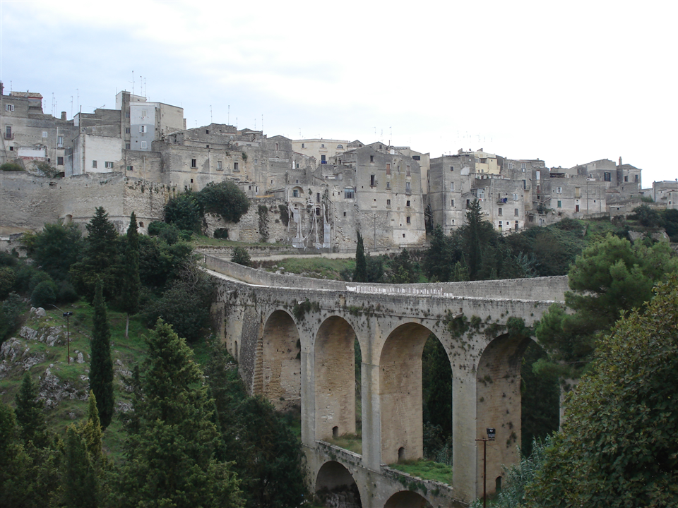
<svg viewBox="0 0 678 508">
<path fill-rule="evenodd" d="M 0 80 L 46 113 L 129 90 L 292 139 L 678 178 L 678 2 L 0 0 Z"/>
</svg>

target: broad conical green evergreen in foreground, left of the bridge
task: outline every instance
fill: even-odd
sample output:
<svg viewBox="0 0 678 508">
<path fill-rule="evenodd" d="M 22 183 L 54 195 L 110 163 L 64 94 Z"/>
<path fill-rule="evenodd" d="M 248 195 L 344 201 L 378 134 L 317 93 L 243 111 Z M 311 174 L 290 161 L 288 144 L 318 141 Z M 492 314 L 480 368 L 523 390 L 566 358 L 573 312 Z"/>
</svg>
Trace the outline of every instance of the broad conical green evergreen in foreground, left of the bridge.
<svg viewBox="0 0 678 508">
<path fill-rule="evenodd" d="M 146 343 L 127 423 L 123 506 L 241 507 L 239 480 L 215 459 L 214 401 L 189 346 L 162 320 Z"/>
</svg>

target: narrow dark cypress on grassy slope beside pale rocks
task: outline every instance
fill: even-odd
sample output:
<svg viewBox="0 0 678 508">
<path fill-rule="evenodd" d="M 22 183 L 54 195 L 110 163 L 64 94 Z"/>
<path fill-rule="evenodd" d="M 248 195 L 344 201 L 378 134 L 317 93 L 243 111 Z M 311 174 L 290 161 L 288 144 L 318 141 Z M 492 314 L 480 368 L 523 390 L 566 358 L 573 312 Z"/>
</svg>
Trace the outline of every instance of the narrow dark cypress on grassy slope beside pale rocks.
<svg viewBox="0 0 678 508">
<path fill-rule="evenodd" d="M 97 281 L 94 296 L 94 329 L 92 332 L 92 362 L 90 389 L 95 395 L 101 427 L 107 428 L 113 418 L 113 361 L 111 358 L 111 330 L 102 296 L 102 282 Z"/>
</svg>

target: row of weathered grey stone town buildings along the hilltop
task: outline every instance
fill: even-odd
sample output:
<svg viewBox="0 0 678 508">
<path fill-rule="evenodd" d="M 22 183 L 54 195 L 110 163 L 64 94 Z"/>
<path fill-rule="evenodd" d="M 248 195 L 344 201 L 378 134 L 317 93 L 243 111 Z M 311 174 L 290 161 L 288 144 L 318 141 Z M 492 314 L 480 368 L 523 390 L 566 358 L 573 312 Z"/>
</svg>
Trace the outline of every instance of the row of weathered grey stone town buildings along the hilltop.
<svg viewBox="0 0 678 508">
<path fill-rule="evenodd" d="M 416 248 L 426 230 L 463 225 L 478 200 L 504 234 L 630 213 L 643 198 L 677 208 L 678 182 L 642 187 L 642 170 L 600 159 L 547 167 L 484 150 L 431 157 L 410 147 L 360 140 L 268 137 L 225 123 L 186 128 L 181 107 L 119 92 L 115 109 L 66 119 L 44 114 L 42 95 L 5 94 L 0 84 L 0 226 L 3 234 L 45 222 L 84 223 L 103 206 L 124 231 L 131 212 L 141 230 L 162 220 L 172 195 L 233 181 L 251 200 L 238 224 L 210 217 L 206 233 L 297 248 Z"/>
</svg>

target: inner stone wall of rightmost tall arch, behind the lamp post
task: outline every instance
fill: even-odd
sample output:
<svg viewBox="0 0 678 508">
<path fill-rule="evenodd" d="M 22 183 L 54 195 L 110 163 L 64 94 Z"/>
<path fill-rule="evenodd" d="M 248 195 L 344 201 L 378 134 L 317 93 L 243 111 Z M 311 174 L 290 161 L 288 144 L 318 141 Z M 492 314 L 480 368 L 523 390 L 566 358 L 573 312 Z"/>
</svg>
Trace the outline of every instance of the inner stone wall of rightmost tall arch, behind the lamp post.
<svg viewBox="0 0 678 508">
<path fill-rule="evenodd" d="M 518 461 L 521 445 L 521 365 L 532 339 L 503 334 L 487 344 L 476 368 L 476 435 L 487 437 L 496 430 L 495 442 L 487 446 L 487 493 L 495 490 L 496 478 L 504 476 L 503 464 Z M 477 445 L 477 495 L 482 495 L 482 442 Z"/>
</svg>

